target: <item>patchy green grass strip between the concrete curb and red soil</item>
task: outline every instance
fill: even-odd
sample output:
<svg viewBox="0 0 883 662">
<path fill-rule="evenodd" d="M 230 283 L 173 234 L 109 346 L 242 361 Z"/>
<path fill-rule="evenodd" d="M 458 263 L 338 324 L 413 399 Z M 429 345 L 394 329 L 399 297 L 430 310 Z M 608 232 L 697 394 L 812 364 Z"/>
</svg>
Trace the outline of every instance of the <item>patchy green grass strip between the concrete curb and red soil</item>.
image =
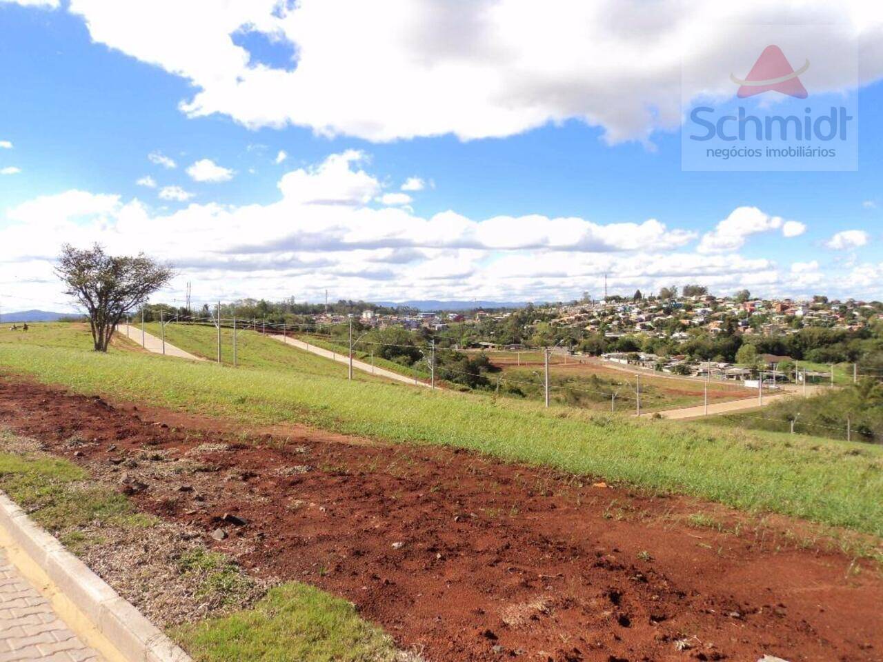
<svg viewBox="0 0 883 662">
<path fill-rule="evenodd" d="M 147 532 L 158 522 L 123 494 L 90 480 L 86 470 L 34 446 L 0 430 L 0 489 L 72 552 L 101 545 L 109 530 Z M 245 592 L 238 588 L 250 581 L 226 556 L 201 547 L 165 562 L 182 575 L 196 575 L 198 601 L 218 593 L 222 604 L 235 604 Z M 147 586 L 157 593 L 164 588 L 161 581 Z M 391 638 L 350 603 L 303 583 L 276 586 L 250 608 L 178 625 L 169 634 L 197 662 L 384 662 L 397 655 Z"/>
</svg>

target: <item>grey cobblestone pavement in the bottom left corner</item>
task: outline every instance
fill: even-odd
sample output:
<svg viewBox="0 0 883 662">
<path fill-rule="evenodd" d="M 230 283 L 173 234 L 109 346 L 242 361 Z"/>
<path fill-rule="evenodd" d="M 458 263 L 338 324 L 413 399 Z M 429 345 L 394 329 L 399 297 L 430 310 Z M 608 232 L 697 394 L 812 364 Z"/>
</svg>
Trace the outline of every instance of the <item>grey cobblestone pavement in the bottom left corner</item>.
<svg viewBox="0 0 883 662">
<path fill-rule="evenodd" d="M 0 549 L 0 662 L 102 662 Z"/>
</svg>

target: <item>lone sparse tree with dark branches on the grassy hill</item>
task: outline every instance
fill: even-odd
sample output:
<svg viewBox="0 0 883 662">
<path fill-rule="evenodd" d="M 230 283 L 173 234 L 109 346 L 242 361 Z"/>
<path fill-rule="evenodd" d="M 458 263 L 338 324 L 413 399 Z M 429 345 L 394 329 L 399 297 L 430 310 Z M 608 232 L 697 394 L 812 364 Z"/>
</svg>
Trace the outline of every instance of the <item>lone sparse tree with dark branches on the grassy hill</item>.
<svg viewBox="0 0 883 662">
<path fill-rule="evenodd" d="M 99 244 L 80 251 L 62 246 L 56 274 L 65 294 L 89 313 L 95 351 L 107 351 L 114 327 L 126 312 L 147 301 L 171 280 L 171 267 L 139 253 L 136 257 L 108 255 Z"/>
</svg>

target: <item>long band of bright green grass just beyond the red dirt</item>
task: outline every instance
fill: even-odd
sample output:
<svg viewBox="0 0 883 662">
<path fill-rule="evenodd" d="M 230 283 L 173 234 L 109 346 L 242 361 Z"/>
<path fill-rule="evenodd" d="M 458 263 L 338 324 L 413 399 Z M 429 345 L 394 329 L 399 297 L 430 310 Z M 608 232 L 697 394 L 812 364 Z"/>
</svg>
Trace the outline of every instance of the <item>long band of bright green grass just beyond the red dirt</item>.
<svg viewBox="0 0 883 662">
<path fill-rule="evenodd" d="M 298 422 L 688 493 L 883 535 L 883 448 L 638 421 L 403 385 L 229 370 L 135 353 L 0 345 L 0 365 L 105 393 L 250 423 Z"/>
</svg>

